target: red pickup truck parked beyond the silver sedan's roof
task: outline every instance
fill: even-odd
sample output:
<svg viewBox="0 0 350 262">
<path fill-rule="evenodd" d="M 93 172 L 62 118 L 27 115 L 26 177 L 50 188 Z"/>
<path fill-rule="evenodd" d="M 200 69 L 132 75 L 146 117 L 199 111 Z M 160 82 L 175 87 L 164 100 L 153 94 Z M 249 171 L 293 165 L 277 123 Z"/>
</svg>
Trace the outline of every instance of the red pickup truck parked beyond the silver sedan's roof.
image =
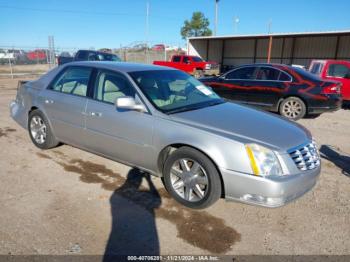
<svg viewBox="0 0 350 262">
<path fill-rule="evenodd" d="M 218 63 L 206 62 L 198 56 L 173 55 L 171 61 L 153 61 L 153 64 L 173 67 L 189 73 L 196 78 L 203 75 L 218 75 L 220 73 Z"/>
</svg>

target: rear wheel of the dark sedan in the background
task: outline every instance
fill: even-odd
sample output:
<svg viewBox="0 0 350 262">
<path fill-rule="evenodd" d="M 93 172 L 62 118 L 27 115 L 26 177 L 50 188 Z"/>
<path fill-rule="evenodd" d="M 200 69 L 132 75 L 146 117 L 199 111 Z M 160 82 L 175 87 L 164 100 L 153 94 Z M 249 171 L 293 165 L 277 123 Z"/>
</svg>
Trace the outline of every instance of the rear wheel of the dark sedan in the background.
<svg viewBox="0 0 350 262">
<path fill-rule="evenodd" d="M 279 113 L 290 120 L 296 121 L 306 115 L 306 105 L 300 98 L 291 96 L 282 101 Z"/>
</svg>

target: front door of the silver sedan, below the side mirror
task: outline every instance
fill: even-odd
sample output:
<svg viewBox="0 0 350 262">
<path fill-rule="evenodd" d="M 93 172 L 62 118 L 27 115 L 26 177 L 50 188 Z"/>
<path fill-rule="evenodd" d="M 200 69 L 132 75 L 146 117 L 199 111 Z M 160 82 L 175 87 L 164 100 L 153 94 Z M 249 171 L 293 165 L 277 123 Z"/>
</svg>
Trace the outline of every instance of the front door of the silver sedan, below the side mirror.
<svg viewBox="0 0 350 262">
<path fill-rule="evenodd" d="M 117 109 L 115 100 L 125 96 L 138 99 L 125 75 L 98 71 L 93 99 L 86 107 L 88 148 L 109 158 L 151 169 L 154 118 L 148 112 Z"/>
</svg>

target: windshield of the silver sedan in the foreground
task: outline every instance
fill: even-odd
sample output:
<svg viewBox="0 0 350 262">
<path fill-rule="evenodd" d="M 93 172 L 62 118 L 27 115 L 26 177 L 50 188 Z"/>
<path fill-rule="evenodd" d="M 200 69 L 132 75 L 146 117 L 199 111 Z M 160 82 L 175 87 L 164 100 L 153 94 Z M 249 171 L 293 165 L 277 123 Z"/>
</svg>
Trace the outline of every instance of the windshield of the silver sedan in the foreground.
<svg viewBox="0 0 350 262">
<path fill-rule="evenodd" d="M 151 103 L 167 114 L 224 103 L 211 88 L 181 71 L 138 71 L 129 75 Z"/>
</svg>

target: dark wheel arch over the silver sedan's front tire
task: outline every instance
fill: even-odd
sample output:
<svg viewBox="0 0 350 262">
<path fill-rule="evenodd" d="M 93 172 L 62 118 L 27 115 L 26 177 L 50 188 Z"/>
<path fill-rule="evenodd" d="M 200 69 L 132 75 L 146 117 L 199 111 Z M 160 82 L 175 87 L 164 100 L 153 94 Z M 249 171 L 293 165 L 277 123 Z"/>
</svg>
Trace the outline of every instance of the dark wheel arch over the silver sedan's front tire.
<svg viewBox="0 0 350 262">
<path fill-rule="evenodd" d="M 222 178 L 220 169 L 218 164 L 215 162 L 215 160 L 210 157 L 208 154 L 206 154 L 203 150 L 199 149 L 198 147 L 195 147 L 193 145 L 189 145 L 186 143 L 174 143 L 174 144 L 170 144 L 165 146 L 159 153 L 158 155 L 158 160 L 157 160 L 157 168 L 158 168 L 158 172 L 159 174 L 161 174 L 160 176 L 162 177 L 162 173 L 163 173 L 163 168 L 164 168 L 164 163 L 166 161 L 166 159 L 171 155 L 172 152 L 174 152 L 175 150 L 179 149 L 180 147 L 190 147 L 194 150 L 197 150 L 198 152 L 201 152 L 203 155 L 205 155 L 207 158 L 209 158 L 209 160 L 214 164 L 216 170 L 218 171 L 219 177 L 220 177 L 220 182 L 221 182 L 221 197 L 225 197 L 225 185 L 224 185 L 224 180 Z"/>
</svg>

